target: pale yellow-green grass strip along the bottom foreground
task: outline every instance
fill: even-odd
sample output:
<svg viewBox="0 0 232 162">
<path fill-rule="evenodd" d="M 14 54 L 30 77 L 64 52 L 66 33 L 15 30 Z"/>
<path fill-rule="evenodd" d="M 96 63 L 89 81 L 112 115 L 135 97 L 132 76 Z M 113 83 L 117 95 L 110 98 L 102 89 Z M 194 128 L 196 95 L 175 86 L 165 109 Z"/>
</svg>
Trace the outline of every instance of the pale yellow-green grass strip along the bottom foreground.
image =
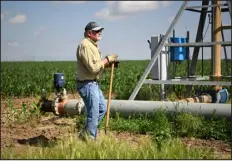
<svg viewBox="0 0 232 162">
<path fill-rule="evenodd" d="M 137 146 L 117 140 L 112 134 L 97 141 L 82 142 L 75 136 L 66 137 L 53 147 L 30 149 L 17 155 L 4 150 L 2 159 L 214 159 L 212 150 L 186 147 L 180 139 L 165 140 L 159 150 L 150 138 L 141 138 Z"/>
</svg>

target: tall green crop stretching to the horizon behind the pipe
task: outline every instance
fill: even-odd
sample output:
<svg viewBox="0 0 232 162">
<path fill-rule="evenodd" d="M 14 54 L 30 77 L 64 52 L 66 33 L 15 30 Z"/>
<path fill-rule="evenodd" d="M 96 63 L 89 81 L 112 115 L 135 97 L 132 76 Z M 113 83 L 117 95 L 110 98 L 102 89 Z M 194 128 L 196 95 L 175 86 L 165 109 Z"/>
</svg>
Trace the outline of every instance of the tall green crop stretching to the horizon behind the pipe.
<svg viewBox="0 0 232 162">
<path fill-rule="evenodd" d="M 231 61 L 229 69 L 226 68 L 225 61 L 222 61 L 222 75 L 231 74 Z M 142 76 L 149 60 L 143 61 L 121 61 L 120 68 L 114 70 L 113 92 L 116 99 L 128 99 Z M 210 61 L 204 60 L 203 75 L 210 75 Z M 174 68 L 176 67 L 174 72 Z M 54 73 L 64 73 L 65 88 L 68 93 L 76 93 L 76 67 L 75 61 L 63 62 L 1 62 L 1 96 L 9 97 L 28 97 L 39 96 L 44 88 L 51 94 L 54 92 L 53 75 Z M 197 63 L 196 75 L 202 74 L 202 62 Z M 187 62 L 170 65 L 170 74 L 174 76 L 187 76 Z M 151 74 L 147 78 L 151 78 Z M 99 84 L 106 94 L 110 83 L 110 68 L 103 73 Z M 194 86 L 194 89 L 204 89 L 207 86 Z M 193 89 L 193 90 L 194 90 Z M 186 90 L 184 85 L 171 86 L 169 97 L 178 97 Z M 230 91 L 230 89 L 229 89 Z M 194 91 L 193 91 L 194 93 Z M 143 85 L 136 99 L 159 100 L 159 85 Z"/>
</svg>

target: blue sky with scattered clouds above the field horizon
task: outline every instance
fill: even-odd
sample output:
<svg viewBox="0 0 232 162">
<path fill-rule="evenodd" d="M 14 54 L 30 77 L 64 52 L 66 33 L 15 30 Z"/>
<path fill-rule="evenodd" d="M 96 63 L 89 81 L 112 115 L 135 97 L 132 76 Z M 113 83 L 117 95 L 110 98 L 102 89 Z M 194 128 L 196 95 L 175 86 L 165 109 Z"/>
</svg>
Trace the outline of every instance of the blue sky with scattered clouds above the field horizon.
<svg viewBox="0 0 232 162">
<path fill-rule="evenodd" d="M 119 60 L 151 59 L 147 40 L 165 34 L 183 1 L 1 1 L 1 61 L 75 61 L 84 28 L 96 21 L 105 29 L 99 47 L 102 56 L 116 53 Z M 223 3 L 225 3 L 223 1 Z M 188 2 L 188 6 L 201 1 Z M 184 11 L 176 36 L 195 41 L 200 14 Z M 229 13 L 222 23 L 231 24 Z M 204 41 L 210 41 L 210 28 Z M 225 33 L 231 41 L 231 31 Z M 210 49 L 204 48 L 204 58 Z M 190 50 L 192 55 L 192 48 Z M 231 48 L 227 48 L 231 58 Z M 201 58 L 201 52 L 199 55 Z M 222 58 L 224 52 L 222 50 Z"/>
</svg>

